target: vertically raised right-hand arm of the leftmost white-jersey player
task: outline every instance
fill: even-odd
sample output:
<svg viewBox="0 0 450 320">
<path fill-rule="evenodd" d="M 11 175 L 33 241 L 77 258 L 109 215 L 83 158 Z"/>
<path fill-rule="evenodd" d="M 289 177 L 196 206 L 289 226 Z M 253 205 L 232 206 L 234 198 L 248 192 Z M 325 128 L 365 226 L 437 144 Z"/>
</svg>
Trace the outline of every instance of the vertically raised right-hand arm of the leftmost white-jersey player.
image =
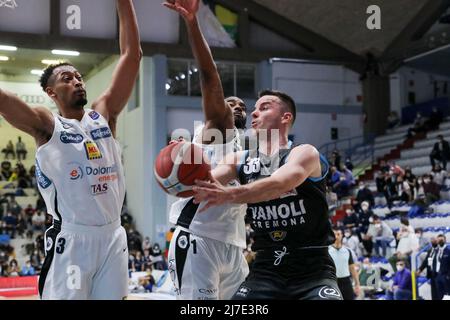
<svg viewBox="0 0 450 320">
<path fill-rule="evenodd" d="M 120 59 L 112 76 L 110 87 L 94 102 L 110 125 L 127 104 L 133 91 L 142 58 L 139 30 L 132 0 L 117 0 L 120 29 Z"/>
</svg>

